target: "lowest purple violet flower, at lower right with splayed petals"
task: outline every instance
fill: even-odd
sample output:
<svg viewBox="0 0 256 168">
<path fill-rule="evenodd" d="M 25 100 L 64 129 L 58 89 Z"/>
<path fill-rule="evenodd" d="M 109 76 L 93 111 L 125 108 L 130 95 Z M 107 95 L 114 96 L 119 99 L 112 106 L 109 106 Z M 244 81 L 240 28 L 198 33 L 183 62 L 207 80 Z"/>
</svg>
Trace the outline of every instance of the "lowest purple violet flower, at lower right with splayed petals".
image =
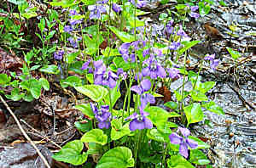
<svg viewBox="0 0 256 168">
<path fill-rule="evenodd" d="M 178 132 L 182 134 L 182 137 L 177 134 Z M 198 144 L 194 140 L 188 138 L 189 135 L 190 132 L 188 128 L 178 127 L 177 132 L 173 132 L 169 136 L 171 143 L 179 145 L 179 154 L 183 155 L 185 158 L 189 156 L 188 147 L 192 149 L 198 147 Z"/>
</svg>

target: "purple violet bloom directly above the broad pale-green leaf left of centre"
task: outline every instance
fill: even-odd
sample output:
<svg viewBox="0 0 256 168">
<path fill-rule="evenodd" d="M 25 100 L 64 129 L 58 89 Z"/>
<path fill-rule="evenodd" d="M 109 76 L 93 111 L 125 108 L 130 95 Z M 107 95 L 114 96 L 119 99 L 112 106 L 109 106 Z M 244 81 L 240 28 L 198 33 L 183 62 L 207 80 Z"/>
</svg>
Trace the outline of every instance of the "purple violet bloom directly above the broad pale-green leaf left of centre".
<svg viewBox="0 0 256 168">
<path fill-rule="evenodd" d="M 116 86 L 116 80 L 119 78 L 113 71 L 108 70 L 102 60 L 94 61 L 94 83 L 96 85 L 103 85 L 109 88 Z"/>
</svg>

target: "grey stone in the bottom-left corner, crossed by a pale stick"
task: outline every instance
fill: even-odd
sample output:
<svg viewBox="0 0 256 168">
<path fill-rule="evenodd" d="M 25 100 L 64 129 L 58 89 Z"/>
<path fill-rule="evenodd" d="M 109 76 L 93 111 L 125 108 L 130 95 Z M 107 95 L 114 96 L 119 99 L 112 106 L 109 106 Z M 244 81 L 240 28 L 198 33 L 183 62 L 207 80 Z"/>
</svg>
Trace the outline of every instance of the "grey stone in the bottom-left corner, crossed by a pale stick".
<svg viewBox="0 0 256 168">
<path fill-rule="evenodd" d="M 38 145 L 37 147 L 49 165 L 53 167 L 52 154 L 49 149 L 43 145 Z M 1 168 L 46 168 L 43 160 L 41 160 L 30 143 L 20 143 L 15 145 L 15 148 L 2 148 L 0 151 Z"/>
</svg>

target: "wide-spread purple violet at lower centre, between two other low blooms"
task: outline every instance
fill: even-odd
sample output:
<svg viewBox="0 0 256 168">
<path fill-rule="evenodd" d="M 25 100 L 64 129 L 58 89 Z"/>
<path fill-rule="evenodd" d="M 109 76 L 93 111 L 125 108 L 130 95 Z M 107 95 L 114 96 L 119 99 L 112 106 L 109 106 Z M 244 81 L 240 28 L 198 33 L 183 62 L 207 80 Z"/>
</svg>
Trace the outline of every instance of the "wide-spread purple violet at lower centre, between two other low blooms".
<svg viewBox="0 0 256 168">
<path fill-rule="evenodd" d="M 127 117 L 125 120 L 130 120 L 130 130 L 131 132 L 136 130 L 143 130 L 145 128 L 151 129 L 153 127 L 153 123 L 151 120 L 146 118 L 149 114 L 144 112 L 142 108 L 140 108 L 140 114 L 133 113 L 129 117 Z"/>
</svg>

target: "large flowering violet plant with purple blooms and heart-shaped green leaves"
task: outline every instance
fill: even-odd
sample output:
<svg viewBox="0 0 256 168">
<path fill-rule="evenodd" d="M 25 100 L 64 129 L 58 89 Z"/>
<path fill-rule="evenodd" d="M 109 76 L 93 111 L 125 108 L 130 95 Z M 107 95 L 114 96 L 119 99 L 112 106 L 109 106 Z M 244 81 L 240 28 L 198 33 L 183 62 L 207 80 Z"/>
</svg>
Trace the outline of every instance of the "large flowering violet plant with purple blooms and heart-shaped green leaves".
<svg viewBox="0 0 256 168">
<path fill-rule="evenodd" d="M 193 135 L 189 125 L 203 120 L 202 109 L 218 114 L 223 111 L 205 95 L 215 82 L 201 82 L 201 69 L 197 74 L 186 69 L 187 51 L 200 41 L 190 41 L 184 22 L 168 20 L 162 29 L 168 40 L 160 43 L 151 39 L 153 29 L 150 36 L 146 36 L 147 28 L 137 18 L 138 13 L 142 13 L 139 8 L 146 6 L 145 1 L 87 2 L 84 3 L 87 12 L 75 10 L 74 1 L 66 6 L 51 4 L 67 8 L 67 20 L 61 23 L 63 43 L 59 44 L 64 49 L 57 49 L 53 58 L 61 64 L 59 70 L 67 64 L 65 70 L 74 70 L 78 75 L 66 76 L 61 86 L 74 87 L 90 102 L 74 106 L 86 116 L 86 123 L 76 123 L 83 136 L 67 143 L 53 158 L 86 165 L 88 158 L 98 155 L 94 165 L 106 168 L 200 165 L 190 162 L 189 156 L 209 146 L 189 136 Z M 200 17 L 195 5 L 184 4 L 183 9 L 184 17 Z M 114 20 L 119 16 L 126 17 L 127 22 L 124 18 Z M 86 25 L 87 22 L 91 25 Z M 119 23 L 123 23 L 127 31 L 118 29 Z M 154 34 L 157 36 L 158 27 Z M 101 47 L 104 42 L 107 42 L 106 48 Z M 68 53 L 67 47 L 73 48 L 73 52 Z M 183 59 L 183 64 L 179 59 Z M 217 59 L 212 56 L 205 59 L 212 70 L 216 70 Z M 162 95 L 157 92 L 158 84 L 169 87 L 178 79 L 183 81 L 183 86 L 174 92 L 175 102 L 162 104 L 168 110 L 160 107 L 157 99 Z M 193 85 L 189 92 L 184 91 L 187 81 Z M 181 122 L 175 123 L 174 118 Z M 84 143 L 88 144 L 86 149 Z M 172 165 L 173 160 L 177 165 Z"/>
</svg>

